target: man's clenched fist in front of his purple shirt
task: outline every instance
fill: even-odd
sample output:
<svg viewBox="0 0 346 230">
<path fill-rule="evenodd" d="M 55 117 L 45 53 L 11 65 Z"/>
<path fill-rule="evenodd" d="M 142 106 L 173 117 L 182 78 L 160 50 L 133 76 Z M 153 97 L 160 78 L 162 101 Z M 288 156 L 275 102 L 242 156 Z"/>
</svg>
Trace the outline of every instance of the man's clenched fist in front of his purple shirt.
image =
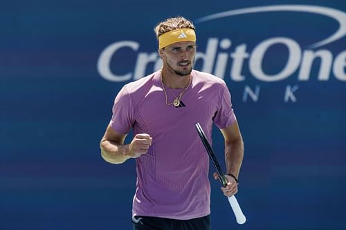
<svg viewBox="0 0 346 230">
<path fill-rule="evenodd" d="M 131 158 L 139 157 L 147 153 L 148 148 L 152 145 L 152 137 L 147 133 L 139 133 L 129 144 L 128 156 Z"/>
</svg>

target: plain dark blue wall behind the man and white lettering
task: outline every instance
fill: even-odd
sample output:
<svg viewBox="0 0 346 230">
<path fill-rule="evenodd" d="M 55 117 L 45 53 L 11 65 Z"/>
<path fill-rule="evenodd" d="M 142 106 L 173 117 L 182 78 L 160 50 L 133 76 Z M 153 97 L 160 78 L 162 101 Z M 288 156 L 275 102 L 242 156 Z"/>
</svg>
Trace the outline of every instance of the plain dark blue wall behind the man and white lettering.
<svg viewBox="0 0 346 230">
<path fill-rule="evenodd" d="M 344 1 L 1 3 L 0 229 L 131 229 L 134 160 L 108 164 L 99 148 L 113 98 L 127 82 L 102 78 L 97 68 L 102 50 L 130 40 L 140 44 L 138 52 L 155 52 L 153 28 L 167 17 L 194 21 L 284 3 L 346 12 Z M 304 12 L 239 15 L 195 26 L 201 52 L 210 37 L 232 40 L 227 52 L 239 44 L 250 52 L 272 37 L 289 37 L 307 50 L 338 29 L 334 19 Z M 336 57 L 345 45 L 342 37 L 314 50 Z M 138 52 L 116 55 L 112 70 L 133 71 Z M 281 46 L 268 50 L 265 72 L 280 72 L 286 54 Z M 280 82 L 261 82 L 246 61 L 246 79 L 234 82 L 228 67 L 224 79 L 245 143 L 237 198 L 248 221 L 235 222 L 219 182 L 210 177 L 212 229 L 346 229 L 346 82 L 333 73 L 318 81 L 319 66 L 313 62 L 306 82 L 298 80 L 298 71 Z M 286 86 L 295 85 L 297 101 L 284 102 Z M 246 86 L 260 87 L 257 102 L 243 101 Z M 217 129 L 213 140 L 223 160 Z"/>
</svg>

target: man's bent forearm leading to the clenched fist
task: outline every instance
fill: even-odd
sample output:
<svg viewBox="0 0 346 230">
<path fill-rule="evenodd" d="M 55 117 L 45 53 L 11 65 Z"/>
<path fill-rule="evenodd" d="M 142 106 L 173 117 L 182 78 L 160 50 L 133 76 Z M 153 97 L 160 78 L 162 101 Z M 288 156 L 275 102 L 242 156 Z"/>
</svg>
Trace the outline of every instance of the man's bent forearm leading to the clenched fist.
<svg viewBox="0 0 346 230">
<path fill-rule="evenodd" d="M 129 145 L 102 140 L 100 143 L 102 158 L 111 164 L 121 164 L 129 159 Z"/>
</svg>

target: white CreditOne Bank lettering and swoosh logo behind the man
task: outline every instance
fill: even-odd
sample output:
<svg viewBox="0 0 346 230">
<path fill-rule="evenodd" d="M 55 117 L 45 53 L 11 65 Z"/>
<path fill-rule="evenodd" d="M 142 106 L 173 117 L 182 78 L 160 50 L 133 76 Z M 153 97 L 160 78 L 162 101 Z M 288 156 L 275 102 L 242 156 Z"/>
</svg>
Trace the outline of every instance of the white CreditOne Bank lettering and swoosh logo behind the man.
<svg viewBox="0 0 346 230">
<path fill-rule="evenodd" d="M 244 41 L 234 42 L 231 37 L 218 37 L 215 33 L 212 37 L 199 37 L 199 50 L 196 54 L 197 70 L 229 80 L 232 82 L 243 82 L 243 101 L 251 98 L 257 102 L 260 96 L 263 82 L 282 82 L 289 79 L 284 90 L 284 102 L 296 102 L 295 95 L 299 94 L 301 87 L 298 82 L 327 82 L 330 79 L 346 82 L 346 50 L 345 46 L 326 46 L 340 39 L 345 39 L 346 35 L 346 13 L 334 8 L 325 6 L 307 5 L 275 5 L 242 8 L 218 12 L 213 15 L 206 15 L 194 20 L 195 24 L 202 24 L 215 19 L 224 19 L 235 15 L 255 15 L 262 12 L 302 12 L 304 14 L 317 14 L 328 18 L 328 22 L 322 26 L 329 25 L 330 19 L 338 23 L 335 32 L 323 34 L 318 32 L 316 36 L 321 37 L 318 41 L 309 41 L 309 45 L 302 46 L 302 42 L 291 37 L 273 36 L 271 30 L 266 30 L 268 37 L 261 41 L 248 44 L 246 37 Z M 258 15 L 260 17 L 260 15 Z M 258 20 L 260 22 L 260 20 Z M 240 21 L 240 23 L 242 23 Z M 275 23 L 280 27 L 280 23 Z M 220 29 L 227 28 L 227 24 L 217 21 Z M 298 25 L 297 27 L 299 27 Z M 181 35 L 183 36 L 183 35 Z M 230 33 L 231 36 L 231 33 Z M 239 37 L 239 36 L 238 36 Z M 251 41 L 249 41 L 251 42 Z M 280 46 L 281 50 L 277 51 Z M 284 47 L 284 49 L 282 49 Z M 121 58 L 117 52 L 122 49 L 130 50 L 137 56 L 134 59 L 133 67 L 120 66 L 111 68 L 111 59 Z M 116 41 L 105 48 L 98 59 L 98 72 L 111 82 L 126 82 L 136 80 L 158 70 L 162 66 L 162 60 L 158 57 L 156 48 L 152 52 L 140 52 L 138 41 Z M 283 57 L 280 63 L 276 63 L 277 68 L 273 68 L 273 63 L 268 61 L 268 57 L 279 55 Z M 113 63 L 116 63 L 115 61 Z M 121 70 L 120 70 L 121 68 Z M 120 74 L 122 73 L 122 74 Z M 125 73 L 125 74 L 124 74 Z M 247 85 L 250 79 L 255 79 L 255 85 Z"/>
</svg>

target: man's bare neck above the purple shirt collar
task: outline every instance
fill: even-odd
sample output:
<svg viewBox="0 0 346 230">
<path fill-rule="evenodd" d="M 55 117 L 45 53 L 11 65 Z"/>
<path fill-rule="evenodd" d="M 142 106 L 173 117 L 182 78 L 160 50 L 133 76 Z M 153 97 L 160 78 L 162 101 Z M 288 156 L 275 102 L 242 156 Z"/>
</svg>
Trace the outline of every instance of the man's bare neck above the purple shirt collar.
<svg viewBox="0 0 346 230">
<path fill-rule="evenodd" d="M 167 68 L 161 69 L 161 77 L 163 79 L 163 83 L 168 88 L 185 88 L 187 84 L 190 82 L 190 75 L 177 75 L 172 70 L 168 70 Z"/>
</svg>

